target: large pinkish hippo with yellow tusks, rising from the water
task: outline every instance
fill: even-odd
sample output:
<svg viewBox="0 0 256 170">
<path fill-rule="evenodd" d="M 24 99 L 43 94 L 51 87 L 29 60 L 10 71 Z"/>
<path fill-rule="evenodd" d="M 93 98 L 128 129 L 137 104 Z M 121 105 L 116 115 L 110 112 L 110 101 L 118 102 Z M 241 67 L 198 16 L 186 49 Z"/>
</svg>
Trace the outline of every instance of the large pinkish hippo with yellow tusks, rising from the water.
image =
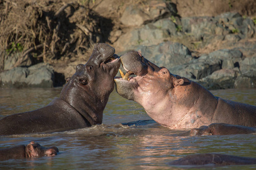
<svg viewBox="0 0 256 170">
<path fill-rule="evenodd" d="M 171 74 L 132 51 L 121 56 L 123 78 L 115 78 L 119 95 L 137 101 L 153 120 L 171 129 L 212 123 L 256 126 L 256 107 L 213 96 L 187 78 Z M 129 75 L 135 74 L 136 77 Z M 121 73 L 122 75 L 122 73 Z"/>
</svg>

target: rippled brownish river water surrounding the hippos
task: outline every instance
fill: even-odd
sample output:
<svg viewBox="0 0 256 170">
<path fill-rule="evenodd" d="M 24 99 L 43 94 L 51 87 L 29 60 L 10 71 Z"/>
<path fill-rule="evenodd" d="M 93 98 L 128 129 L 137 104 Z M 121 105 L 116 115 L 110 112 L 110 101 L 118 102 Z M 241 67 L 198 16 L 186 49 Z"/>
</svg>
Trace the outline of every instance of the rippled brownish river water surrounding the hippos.
<svg viewBox="0 0 256 170">
<path fill-rule="evenodd" d="M 0 89 L 0 117 L 41 108 L 58 97 L 60 91 L 61 88 Z M 212 92 L 224 99 L 256 105 L 255 90 Z M 128 122 L 135 125 L 127 126 Z M 1 137 L 0 148 L 35 141 L 45 147 L 58 147 L 60 154 L 53 158 L 5 160 L 0 162 L 0 169 L 181 169 L 167 163 L 185 155 L 204 153 L 256 158 L 256 135 L 174 136 L 184 131 L 156 124 L 141 105 L 114 91 L 106 105 L 102 125 L 63 133 Z M 256 165 L 240 165 L 213 169 L 255 168 Z"/>
</svg>

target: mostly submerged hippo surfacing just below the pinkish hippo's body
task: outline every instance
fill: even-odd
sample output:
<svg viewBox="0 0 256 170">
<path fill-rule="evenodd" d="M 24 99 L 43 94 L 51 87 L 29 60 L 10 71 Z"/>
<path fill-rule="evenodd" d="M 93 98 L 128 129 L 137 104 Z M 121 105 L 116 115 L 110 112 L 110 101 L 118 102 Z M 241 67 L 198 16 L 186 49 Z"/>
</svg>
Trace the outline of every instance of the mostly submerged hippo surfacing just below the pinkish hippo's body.
<svg viewBox="0 0 256 170">
<path fill-rule="evenodd" d="M 256 133 L 256 128 L 229 124 L 210 124 L 198 129 L 191 129 L 188 133 L 189 136 L 250 134 Z"/>
</svg>

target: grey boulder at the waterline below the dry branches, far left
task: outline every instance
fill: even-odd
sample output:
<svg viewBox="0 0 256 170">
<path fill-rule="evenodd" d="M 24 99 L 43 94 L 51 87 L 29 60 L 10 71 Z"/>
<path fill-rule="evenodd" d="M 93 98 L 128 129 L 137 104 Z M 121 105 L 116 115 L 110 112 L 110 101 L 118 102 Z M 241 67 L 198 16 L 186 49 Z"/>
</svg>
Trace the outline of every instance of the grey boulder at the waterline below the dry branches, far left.
<svg viewBox="0 0 256 170">
<path fill-rule="evenodd" d="M 0 73 L 1 87 L 53 87 L 54 71 L 47 63 L 15 67 Z"/>
</svg>

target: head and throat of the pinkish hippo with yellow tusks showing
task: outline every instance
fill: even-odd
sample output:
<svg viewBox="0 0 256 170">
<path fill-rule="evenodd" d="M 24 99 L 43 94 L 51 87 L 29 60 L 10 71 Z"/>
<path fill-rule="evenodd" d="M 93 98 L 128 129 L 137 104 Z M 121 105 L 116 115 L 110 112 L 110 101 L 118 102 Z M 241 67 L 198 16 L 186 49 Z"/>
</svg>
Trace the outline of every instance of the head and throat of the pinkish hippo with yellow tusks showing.
<svg viewBox="0 0 256 170">
<path fill-rule="evenodd" d="M 121 73 L 123 78 L 114 79 L 118 94 L 137 101 L 152 118 L 152 114 L 164 112 L 163 105 L 169 102 L 168 97 L 174 87 L 189 83 L 188 79 L 171 74 L 165 67 L 156 66 L 136 51 L 123 54 L 120 58 L 127 73 Z M 129 77 L 131 74 L 137 76 Z"/>
</svg>

